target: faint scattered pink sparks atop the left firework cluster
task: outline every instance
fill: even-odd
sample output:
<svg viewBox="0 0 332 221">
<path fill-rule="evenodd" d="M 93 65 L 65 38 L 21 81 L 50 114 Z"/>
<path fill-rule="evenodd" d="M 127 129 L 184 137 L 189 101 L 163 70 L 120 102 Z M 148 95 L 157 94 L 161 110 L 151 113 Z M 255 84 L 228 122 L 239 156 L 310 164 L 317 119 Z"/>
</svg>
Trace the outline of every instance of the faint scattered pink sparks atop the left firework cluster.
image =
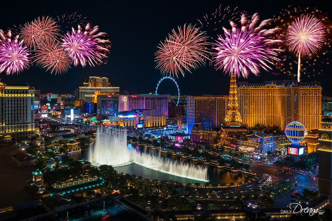
<svg viewBox="0 0 332 221">
<path fill-rule="evenodd" d="M 74 26 L 77 27 L 78 25 L 82 26 L 84 24 L 88 24 L 90 23 L 87 20 L 87 17 L 83 17 L 82 15 L 73 13 L 71 15 L 62 15 L 62 16 L 58 16 L 58 25 L 61 28 L 62 32 L 67 32 L 70 31 L 71 28 L 73 28 Z"/>
</svg>

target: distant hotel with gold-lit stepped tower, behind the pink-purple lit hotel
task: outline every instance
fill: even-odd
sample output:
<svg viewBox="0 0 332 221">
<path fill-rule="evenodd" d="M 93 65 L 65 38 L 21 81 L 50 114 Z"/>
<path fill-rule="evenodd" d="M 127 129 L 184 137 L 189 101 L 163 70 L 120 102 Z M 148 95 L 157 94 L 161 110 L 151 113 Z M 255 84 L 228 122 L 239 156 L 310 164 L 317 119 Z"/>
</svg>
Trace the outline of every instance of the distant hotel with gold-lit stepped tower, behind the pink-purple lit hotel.
<svg viewBox="0 0 332 221">
<path fill-rule="evenodd" d="M 120 87 L 113 87 L 105 77 L 89 77 L 88 84 L 79 87 L 79 98 L 86 102 L 97 103 L 97 95 L 119 95 Z M 87 86 L 86 86 L 87 85 Z"/>
</svg>

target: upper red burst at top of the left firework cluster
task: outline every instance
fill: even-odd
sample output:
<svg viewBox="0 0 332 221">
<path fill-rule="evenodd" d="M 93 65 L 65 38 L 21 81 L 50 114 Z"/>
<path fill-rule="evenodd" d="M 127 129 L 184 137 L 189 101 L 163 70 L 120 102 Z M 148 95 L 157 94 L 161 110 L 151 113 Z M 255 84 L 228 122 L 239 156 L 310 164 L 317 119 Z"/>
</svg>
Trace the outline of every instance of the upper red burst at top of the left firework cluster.
<svg viewBox="0 0 332 221">
<path fill-rule="evenodd" d="M 29 47 L 36 47 L 41 41 L 59 36 L 59 27 L 50 17 L 38 17 L 21 29 L 21 38 Z"/>
</svg>

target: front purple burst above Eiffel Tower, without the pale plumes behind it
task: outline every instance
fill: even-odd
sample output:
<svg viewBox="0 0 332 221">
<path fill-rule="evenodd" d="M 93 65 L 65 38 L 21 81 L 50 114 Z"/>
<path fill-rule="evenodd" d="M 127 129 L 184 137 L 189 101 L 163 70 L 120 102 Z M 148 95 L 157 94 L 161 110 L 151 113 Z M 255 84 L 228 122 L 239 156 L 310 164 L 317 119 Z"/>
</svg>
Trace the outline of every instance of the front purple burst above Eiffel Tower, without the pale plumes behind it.
<svg viewBox="0 0 332 221">
<path fill-rule="evenodd" d="M 217 70 L 223 69 L 229 75 L 247 78 L 249 73 L 260 73 L 260 68 L 271 70 L 271 60 L 276 60 L 276 50 L 269 50 L 258 37 L 250 32 L 233 30 L 225 33 L 225 37 L 219 36 L 214 43 L 216 52 L 213 53 L 213 61 Z"/>
</svg>

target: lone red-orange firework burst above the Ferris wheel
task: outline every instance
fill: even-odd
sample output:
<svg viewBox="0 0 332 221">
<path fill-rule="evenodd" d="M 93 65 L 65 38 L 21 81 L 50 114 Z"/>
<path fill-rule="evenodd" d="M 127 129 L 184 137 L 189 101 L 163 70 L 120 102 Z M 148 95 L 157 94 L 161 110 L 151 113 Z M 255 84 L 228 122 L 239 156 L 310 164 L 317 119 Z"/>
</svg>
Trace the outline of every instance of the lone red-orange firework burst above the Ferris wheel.
<svg viewBox="0 0 332 221">
<path fill-rule="evenodd" d="M 178 27 L 178 32 L 173 29 L 172 34 L 158 46 L 159 50 L 155 53 L 156 68 L 165 75 L 175 75 L 177 78 L 179 74 L 185 76 L 185 71 L 192 73 L 209 59 L 208 39 L 206 32 L 192 25 Z"/>
</svg>

